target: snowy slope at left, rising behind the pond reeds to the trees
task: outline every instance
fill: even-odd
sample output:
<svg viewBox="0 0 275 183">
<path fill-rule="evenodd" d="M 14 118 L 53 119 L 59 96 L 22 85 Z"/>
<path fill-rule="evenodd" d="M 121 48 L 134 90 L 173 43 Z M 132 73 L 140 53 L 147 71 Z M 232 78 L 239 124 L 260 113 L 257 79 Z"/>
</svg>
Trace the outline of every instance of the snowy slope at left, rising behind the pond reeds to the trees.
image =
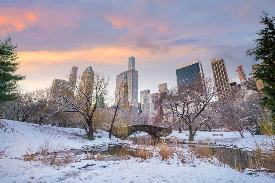
<svg viewBox="0 0 275 183">
<path fill-rule="evenodd" d="M 39 125 L 12 120 L 0 119 L 1 128 L 1 154 L 2 156 L 18 157 L 25 154 L 28 145 L 35 153 L 39 146 L 50 141 L 50 146 L 63 147 L 64 149 L 83 149 L 84 147 L 116 145 L 129 143 L 127 140 L 118 140 L 112 136 L 108 138 L 108 132 L 97 130 L 95 139 L 88 140 L 86 131 L 82 128 L 63 128 L 50 125 Z"/>
</svg>

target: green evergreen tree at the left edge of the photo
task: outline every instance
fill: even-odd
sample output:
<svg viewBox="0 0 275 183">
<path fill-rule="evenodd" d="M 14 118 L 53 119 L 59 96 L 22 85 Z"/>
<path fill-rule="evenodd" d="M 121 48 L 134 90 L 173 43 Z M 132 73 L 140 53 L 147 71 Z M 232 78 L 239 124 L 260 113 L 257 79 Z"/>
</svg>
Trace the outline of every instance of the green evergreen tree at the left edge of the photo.
<svg viewBox="0 0 275 183">
<path fill-rule="evenodd" d="M 14 74 L 20 68 L 16 48 L 10 37 L 0 40 L 0 102 L 16 99 L 17 82 L 25 79 L 25 76 Z"/>
</svg>

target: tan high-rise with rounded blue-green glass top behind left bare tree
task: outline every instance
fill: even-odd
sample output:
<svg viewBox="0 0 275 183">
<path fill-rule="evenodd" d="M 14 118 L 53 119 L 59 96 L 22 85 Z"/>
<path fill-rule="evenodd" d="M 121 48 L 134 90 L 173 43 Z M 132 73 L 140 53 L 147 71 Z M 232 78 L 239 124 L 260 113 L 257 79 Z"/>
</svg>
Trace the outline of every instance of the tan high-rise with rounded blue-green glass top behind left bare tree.
<svg viewBox="0 0 275 183">
<path fill-rule="evenodd" d="M 94 71 L 91 66 L 84 70 L 81 76 L 80 88 L 86 95 L 88 95 L 88 93 L 90 93 L 90 96 L 93 95 Z"/>
</svg>

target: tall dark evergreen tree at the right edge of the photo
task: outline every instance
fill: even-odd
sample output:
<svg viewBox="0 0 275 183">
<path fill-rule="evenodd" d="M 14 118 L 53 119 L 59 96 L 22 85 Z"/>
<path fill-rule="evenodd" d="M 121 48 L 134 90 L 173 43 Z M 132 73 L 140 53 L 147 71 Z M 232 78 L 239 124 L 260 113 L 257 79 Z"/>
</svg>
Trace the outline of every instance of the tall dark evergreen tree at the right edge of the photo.
<svg viewBox="0 0 275 183">
<path fill-rule="evenodd" d="M 261 105 L 271 111 L 273 123 L 275 120 L 275 16 L 271 18 L 263 12 L 260 23 L 265 27 L 257 32 L 255 48 L 249 49 L 246 54 L 253 56 L 256 61 L 262 61 L 253 74 L 254 78 L 262 80 L 264 87 L 261 91 L 266 95 L 262 98 Z"/>
</svg>

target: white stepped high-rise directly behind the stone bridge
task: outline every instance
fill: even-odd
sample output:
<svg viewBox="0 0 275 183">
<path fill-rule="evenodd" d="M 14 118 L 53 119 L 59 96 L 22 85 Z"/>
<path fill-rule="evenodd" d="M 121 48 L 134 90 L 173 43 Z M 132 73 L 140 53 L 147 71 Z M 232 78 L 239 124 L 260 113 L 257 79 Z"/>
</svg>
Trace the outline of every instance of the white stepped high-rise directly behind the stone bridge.
<svg viewBox="0 0 275 183">
<path fill-rule="evenodd" d="M 152 118 L 155 117 L 156 111 L 152 102 L 152 97 L 149 93 L 144 95 L 144 103 L 142 104 L 141 109 L 141 115 L 148 119 L 148 124 L 152 124 L 154 122 Z"/>
</svg>

